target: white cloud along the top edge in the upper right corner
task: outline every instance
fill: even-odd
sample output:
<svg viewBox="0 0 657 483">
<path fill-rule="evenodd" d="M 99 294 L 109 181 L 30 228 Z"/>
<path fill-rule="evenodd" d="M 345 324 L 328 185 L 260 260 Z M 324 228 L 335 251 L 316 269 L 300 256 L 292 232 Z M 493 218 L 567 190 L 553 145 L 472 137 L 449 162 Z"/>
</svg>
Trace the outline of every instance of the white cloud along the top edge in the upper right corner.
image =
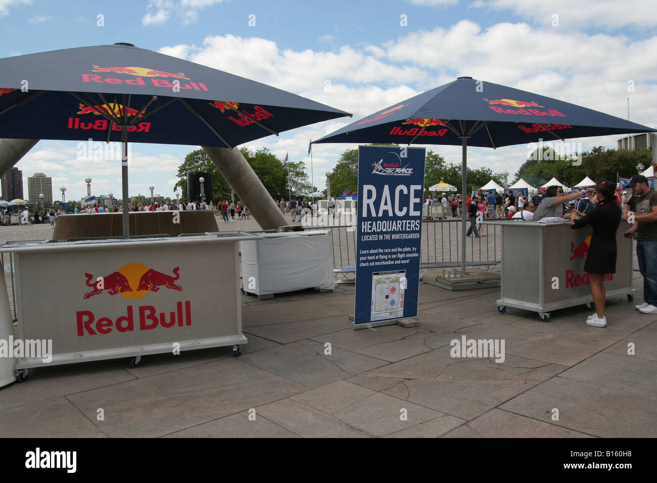
<svg viewBox="0 0 657 483">
<path fill-rule="evenodd" d="M 657 26 L 654 4 L 640 0 L 488 0 L 476 1 L 472 7 L 491 10 L 509 10 L 523 18 L 530 18 L 549 28 L 585 28 L 604 26 L 620 28 L 633 25 L 637 28 Z M 553 27 L 555 15 L 558 26 Z"/>
</svg>

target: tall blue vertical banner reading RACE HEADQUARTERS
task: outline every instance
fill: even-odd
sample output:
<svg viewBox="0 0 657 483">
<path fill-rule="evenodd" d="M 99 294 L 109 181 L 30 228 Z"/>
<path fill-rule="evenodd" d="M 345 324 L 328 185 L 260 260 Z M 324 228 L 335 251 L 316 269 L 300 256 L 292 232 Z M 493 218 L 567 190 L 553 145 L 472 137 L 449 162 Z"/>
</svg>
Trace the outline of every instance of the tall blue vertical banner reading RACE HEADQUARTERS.
<svg viewBox="0 0 657 483">
<path fill-rule="evenodd" d="M 417 317 L 424 155 L 424 148 L 358 148 L 354 329 Z"/>
</svg>

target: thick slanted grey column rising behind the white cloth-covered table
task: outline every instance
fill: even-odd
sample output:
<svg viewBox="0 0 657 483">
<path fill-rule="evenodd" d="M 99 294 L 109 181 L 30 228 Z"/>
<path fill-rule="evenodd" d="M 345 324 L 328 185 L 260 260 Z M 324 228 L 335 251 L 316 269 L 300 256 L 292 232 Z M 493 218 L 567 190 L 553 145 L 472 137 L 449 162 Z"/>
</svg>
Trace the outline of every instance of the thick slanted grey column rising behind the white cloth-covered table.
<svg viewBox="0 0 657 483">
<path fill-rule="evenodd" d="M 289 225 L 239 149 L 202 146 L 263 230 Z"/>
</svg>

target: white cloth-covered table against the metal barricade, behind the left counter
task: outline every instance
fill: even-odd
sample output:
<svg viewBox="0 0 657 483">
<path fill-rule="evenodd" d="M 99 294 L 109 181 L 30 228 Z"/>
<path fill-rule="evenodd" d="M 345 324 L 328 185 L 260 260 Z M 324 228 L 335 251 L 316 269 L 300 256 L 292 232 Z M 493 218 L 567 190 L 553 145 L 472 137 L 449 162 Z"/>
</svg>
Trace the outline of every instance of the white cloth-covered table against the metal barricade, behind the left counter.
<svg viewBox="0 0 657 483">
<path fill-rule="evenodd" d="M 267 295 L 304 288 L 333 290 L 330 232 L 267 233 L 263 237 L 240 241 L 246 292 Z"/>
</svg>

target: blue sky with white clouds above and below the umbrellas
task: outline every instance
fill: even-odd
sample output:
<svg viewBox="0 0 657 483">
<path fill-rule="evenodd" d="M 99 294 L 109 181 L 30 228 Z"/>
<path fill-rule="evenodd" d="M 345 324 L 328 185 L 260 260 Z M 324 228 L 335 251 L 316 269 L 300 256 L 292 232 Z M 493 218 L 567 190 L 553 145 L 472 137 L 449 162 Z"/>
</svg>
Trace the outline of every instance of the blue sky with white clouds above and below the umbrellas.
<svg viewBox="0 0 657 483">
<path fill-rule="evenodd" d="M 129 42 L 286 89 L 361 118 L 472 76 L 657 126 L 654 1 L 23 1 L 0 0 L 0 57 Z M 99 22 L 99 15 L 102 22 Z M 102 25 L 99 25 L 102 24 Z M 634 90 L 628 91 L 628 81 Z M 0 86 L 1 87 L 1 86 Z M 310 138 L 333 120 L 248 143 L 304 160 Z M 1 137 L 1 133 L 0 133 Z M 616 137 L 574 139 L 583 149 Z M 120 193 L 120 163 L 79 162 L 77 143 L 41 141 L 16 166 L 44 172 L 67 198 Z M 313 148 L 315 185 L 325 187 L 344 149 Z M 449 161 L 460 147 L 429 147 Z M 148 185 L 173 195 L 175 172 L 196 147 L 131 145 L 130 194 Z M 470 166 L 516 172 L 525 146 L 470 149 Z M 447 181 L 447 180 L 445 180 Z M 27 189 L 25 186 L 25 196 Z"/>
</svg>

